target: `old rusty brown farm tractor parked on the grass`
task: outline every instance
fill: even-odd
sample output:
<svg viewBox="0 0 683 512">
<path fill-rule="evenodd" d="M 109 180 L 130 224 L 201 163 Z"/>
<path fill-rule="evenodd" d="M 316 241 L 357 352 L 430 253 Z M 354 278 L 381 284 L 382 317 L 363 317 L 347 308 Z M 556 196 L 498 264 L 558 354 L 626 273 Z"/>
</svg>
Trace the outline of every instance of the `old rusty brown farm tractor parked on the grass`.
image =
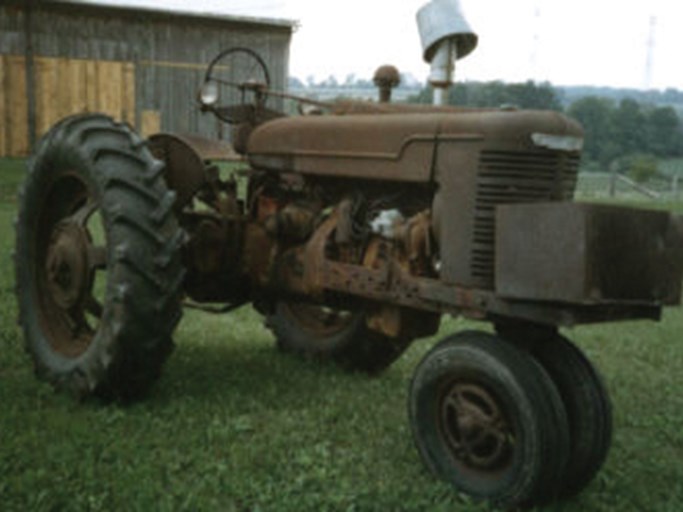
<svg viewBox="0 0 683 512">
<path fill-rule="evenodd" d="M 285 99 L 301 115 L 273 107 Z M 15 269 L 40 378 L 79 398 L 141 397 L 184 306 L 251 304 L 281 350 L 369 374 L 462 316 L 493 329 L 437 343 L 410 383 L 427 468 L 502 508 L 592 480 L 610 400 L 560 328 L 678 304 L 683 230 L 667 212 L 573 201 L 575 121 L 297 98 L 247 48 L 210 63 L 200 108 L 231 126 L 230 144 L 143 139 L 100 114 L 39 142 Z M 219 163 L 233 152 L 230 173 Z"/>
</svg>

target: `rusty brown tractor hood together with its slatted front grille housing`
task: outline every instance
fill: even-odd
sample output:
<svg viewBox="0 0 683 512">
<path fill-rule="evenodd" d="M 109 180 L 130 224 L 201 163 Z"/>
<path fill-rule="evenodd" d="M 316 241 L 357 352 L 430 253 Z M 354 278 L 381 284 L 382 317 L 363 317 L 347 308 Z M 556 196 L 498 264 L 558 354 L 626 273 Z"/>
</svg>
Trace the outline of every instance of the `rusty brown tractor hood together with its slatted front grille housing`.
<svg viewBox="0 0 683 512">
<path fill-rule="evenodd" d="M 557 113 L 396 113 L 278 120 L 256 129 L 250 151 L 252 165 L 276 172 L 438 183 L 442 279 L 493 289 L 495 206 L 573 194 L 578 152 L 538 147 L 539 133 L 583 136 Z"/>
</svg>

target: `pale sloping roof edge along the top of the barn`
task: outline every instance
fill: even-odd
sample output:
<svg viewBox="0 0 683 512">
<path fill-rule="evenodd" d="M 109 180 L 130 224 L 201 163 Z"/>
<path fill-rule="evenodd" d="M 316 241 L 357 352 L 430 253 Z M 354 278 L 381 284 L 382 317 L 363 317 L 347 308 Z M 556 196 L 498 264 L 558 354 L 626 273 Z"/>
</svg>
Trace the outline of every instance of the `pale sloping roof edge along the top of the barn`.
<svg viewBox="0 0 683 512">
<path fill-rule="evenodd" d="M 192 5 L 192 2 L 184 2 L 182 7 L 160 6 L 150 2 L 150 0 L 42 0 L 39 3 L 113 9 L 125 12 L 145 12 L 173 17 L 201 18 L 213 21 L 222 20 L 232 23 L 269 25 L 292 30 L 298 26 L 298 22 L 291 19 L 231 14 L 228 6 L 207 9 L 202 6 Z"/>
</svg>

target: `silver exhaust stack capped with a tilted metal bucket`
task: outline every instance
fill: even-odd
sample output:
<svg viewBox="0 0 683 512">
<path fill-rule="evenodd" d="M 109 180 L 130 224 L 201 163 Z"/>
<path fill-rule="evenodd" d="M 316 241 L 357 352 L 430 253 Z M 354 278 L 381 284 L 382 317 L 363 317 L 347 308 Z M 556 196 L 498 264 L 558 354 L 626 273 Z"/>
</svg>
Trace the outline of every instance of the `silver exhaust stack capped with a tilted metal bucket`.
<svg viewBox="0 0 683 512">
<path fill-rule="evenodd" d="M 431 0 L 417 11 L 422 57 L 430 63 L 429 83 L 434 88 L 434 105 L 445 105 L 453 83 L 455 61 L 477 46 L 477 34 L 470 28 L 459 0 Z"/>
</svg>

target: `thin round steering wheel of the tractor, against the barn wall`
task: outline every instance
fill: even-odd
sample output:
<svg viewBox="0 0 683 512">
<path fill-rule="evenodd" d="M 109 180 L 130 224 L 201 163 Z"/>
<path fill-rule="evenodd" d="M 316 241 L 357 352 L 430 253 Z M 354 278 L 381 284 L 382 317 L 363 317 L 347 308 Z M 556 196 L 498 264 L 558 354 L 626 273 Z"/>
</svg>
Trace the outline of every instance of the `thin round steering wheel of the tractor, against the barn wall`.
<svg viewBox="0 0 683 512">
<path fill-rule="evenodd" d="M 221 91 L 233 101 L 219 104 Z M 210 111 L 226 123 L 237 124 L 250 119 L 265 108 L 270 88 L 270 74 L 261 56 L 249 48 L 230 48 L 209 63 L 200 90 L 202 109 Z"/>
</svg>

